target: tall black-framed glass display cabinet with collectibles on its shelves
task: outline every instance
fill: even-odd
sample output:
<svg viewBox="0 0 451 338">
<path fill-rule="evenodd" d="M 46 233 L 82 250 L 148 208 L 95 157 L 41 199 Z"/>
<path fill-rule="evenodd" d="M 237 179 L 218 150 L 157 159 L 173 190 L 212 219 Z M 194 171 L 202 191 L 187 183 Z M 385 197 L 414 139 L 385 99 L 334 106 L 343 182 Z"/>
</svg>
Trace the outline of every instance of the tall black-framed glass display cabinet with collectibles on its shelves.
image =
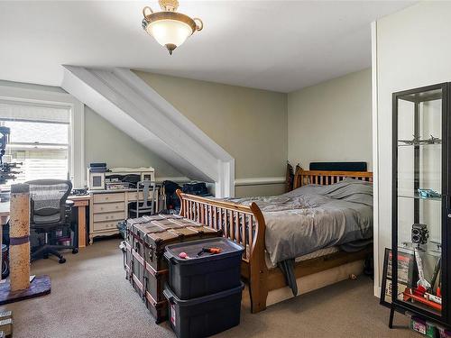
<svg viewBox="0 0 451 338">
<path fill-rule="evenodd" d="M 449 326 L 450 84 L 394 93 L 391 315 Z"/>
</svg>

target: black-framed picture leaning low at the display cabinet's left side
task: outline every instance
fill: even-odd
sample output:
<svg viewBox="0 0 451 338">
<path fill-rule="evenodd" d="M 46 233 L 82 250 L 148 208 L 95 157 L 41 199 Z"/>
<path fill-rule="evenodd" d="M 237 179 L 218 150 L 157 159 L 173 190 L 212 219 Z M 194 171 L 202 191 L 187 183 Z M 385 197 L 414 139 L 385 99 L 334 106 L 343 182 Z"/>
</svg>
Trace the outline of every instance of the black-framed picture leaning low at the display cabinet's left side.
<svg viewBox="0 0 451 338">
<path fill-rule="evenodd" d="M 402 299 L 402 291 L 412 288 L 415 257 L 413 252 L 398 251 L 398 298 Z M 391 307 L 392 277 L 391 249 L 385 248 L 382 269 L 382 288 L 380 304 Z"/>
</svg>

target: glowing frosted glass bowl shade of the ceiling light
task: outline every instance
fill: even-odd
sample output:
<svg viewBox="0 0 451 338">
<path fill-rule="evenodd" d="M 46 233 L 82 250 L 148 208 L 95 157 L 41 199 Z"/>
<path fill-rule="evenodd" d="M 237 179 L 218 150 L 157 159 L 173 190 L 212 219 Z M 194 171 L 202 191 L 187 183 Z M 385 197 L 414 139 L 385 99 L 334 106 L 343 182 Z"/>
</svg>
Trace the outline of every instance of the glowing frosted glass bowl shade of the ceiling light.
<svg viewBox="0 0 451 338">
<path fill-rule="evenodd" d="M 161 46 L 173 44 L 177 47 L 185 42 L 193 33 L 193 30 L 187 23 L 170 19 L 162 19 L 149 23 L 146 27 L 146 31 L 151 34 Z"/>
</svg>

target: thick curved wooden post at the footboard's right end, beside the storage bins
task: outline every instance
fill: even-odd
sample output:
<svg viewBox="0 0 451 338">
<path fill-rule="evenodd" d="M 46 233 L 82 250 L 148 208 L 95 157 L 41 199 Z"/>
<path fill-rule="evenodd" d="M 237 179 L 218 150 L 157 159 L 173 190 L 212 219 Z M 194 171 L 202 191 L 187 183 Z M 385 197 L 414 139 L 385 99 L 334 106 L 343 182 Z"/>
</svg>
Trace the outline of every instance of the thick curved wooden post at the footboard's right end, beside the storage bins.
<svg viewBox="0 0 451 338">
<path fill-rule="evenodd" d="M 264 233 L 266 224 L 260 208 L 253 202 L 251 210 L 255 215 L 256 227 L 249 258 L 249 293 L 253 314 L 266 309 L 268 297 L 268 268 L 264 259 Z"/>
</svg>

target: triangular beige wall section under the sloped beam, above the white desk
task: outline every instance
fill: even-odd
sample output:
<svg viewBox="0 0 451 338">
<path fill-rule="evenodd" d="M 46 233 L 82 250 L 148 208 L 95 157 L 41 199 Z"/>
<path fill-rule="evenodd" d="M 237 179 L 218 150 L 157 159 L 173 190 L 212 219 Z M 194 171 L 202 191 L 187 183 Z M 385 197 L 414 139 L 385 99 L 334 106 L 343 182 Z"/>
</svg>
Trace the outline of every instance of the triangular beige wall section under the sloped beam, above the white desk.
<svg viewBox="0 0 451 338">
<path fill-rule="evenodd" d="M 182 175 L 160 157 L 85 107 L 85 160 L 106 162 L 108 167 L 153 167 L 157 178 Z"/>
</svg>

